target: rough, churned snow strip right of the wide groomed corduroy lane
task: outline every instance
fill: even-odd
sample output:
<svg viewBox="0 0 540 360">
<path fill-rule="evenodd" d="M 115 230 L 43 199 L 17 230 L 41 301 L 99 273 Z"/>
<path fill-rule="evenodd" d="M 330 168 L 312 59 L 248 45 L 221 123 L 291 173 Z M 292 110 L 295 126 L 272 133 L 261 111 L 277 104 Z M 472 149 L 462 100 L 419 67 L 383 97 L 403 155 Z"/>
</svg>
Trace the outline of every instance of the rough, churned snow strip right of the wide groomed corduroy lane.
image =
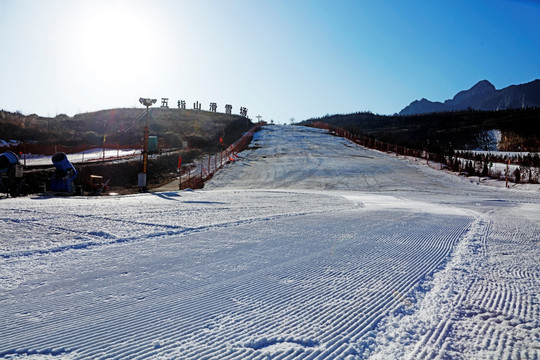
<svg viewBox="0 0 540 360">
<path fill-rule="evenodd" d="M 396 318 L 402 325 L 395 342 L 411 345 L 381 341 L 386 346 L 376 358 L 540 357 L 540 302 L 532 290 L 540 286 L 540 269 L 528 259 L 540 251 L 534 235 L 524 236 L 535 229 L 534 216 L 516 216 L 520 211 L 491 211 L 475 221 L 422 306 Z M 401 340 L 404 334 L 410 339 Z"/>
</svg>

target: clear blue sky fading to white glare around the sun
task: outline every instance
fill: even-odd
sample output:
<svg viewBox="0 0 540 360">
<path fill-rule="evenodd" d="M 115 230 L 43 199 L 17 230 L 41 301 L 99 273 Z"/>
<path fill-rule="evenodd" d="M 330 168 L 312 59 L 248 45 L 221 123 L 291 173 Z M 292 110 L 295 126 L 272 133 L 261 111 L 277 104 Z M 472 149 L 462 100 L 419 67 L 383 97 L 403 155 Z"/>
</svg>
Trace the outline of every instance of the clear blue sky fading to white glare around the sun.
<svg viewBox="0 0 540 360">
<path fill-rule="evenodd" d="M 0 0 L 0 109 L 393 114 L 540 78 L 538 19 L 525 0 Z"/>
</svg>

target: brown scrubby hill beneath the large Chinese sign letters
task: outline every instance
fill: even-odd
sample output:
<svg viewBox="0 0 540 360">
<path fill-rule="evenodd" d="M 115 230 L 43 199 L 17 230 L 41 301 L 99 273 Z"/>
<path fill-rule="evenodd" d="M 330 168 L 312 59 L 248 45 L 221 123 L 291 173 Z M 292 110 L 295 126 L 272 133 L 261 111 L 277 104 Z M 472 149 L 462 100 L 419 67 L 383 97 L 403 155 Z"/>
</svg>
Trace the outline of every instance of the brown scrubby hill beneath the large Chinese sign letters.
<svg viewBox="0 0 540 360">
<path fill-rule="evenodd" d="M 111 109 L 77 114 L 61 114 L 54 118 L 35 114 L 22 115 L 0 111 L 0 139 L 26 144 L 64 145 L 81 144 L 102 146 L 136 146 L 142 143 L 146 123 L 145 109 Z M 148 113 L 150 135 L 158 136 L 168 148 L 219 147 L 219 138 L 237 139 L 251 126 L 251 121 L 240 115 L 201 110 L 155 108 Z"/>
</svg>

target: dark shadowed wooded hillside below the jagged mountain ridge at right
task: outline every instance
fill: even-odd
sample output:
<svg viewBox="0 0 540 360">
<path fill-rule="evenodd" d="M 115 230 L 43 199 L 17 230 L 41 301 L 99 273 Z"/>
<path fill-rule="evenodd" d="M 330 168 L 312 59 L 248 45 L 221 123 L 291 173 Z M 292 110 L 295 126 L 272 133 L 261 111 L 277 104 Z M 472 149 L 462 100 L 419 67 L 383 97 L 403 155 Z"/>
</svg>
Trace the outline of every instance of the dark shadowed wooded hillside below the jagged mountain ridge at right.
<svg viewBox="0 0 540 360">
<path fill-rule="evenodd" d="M 456 111 L 419 115 L 377 115 L 371 112 L 326 115 L 300 125 L 323 122 L 400 146 L 415 149 L 486 149 L 486 134 L 498 130 L 501 151 L 540 151 L 540 109 Z M 491 149 L 489 148 L 491 147 Z"/>
</svg>

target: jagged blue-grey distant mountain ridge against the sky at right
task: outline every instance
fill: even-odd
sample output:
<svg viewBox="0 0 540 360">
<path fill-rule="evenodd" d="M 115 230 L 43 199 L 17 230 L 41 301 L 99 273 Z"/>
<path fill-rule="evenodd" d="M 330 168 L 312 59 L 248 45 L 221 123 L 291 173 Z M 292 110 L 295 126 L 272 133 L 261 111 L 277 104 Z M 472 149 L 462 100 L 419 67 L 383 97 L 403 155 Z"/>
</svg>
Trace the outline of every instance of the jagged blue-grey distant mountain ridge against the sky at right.
<svg viewBox="0 0 540 360">
<path fill-rule="evenodd" d="M 445 102 L 415 100 L 399 112 L 399 115 L 426 114 L 434 112 L 475 110 L 504 110 L 540 107 L 540 79 L 497 90 L 487 80 L 479 81 L 469 90 L 458 92 Z"/>
</svg>

